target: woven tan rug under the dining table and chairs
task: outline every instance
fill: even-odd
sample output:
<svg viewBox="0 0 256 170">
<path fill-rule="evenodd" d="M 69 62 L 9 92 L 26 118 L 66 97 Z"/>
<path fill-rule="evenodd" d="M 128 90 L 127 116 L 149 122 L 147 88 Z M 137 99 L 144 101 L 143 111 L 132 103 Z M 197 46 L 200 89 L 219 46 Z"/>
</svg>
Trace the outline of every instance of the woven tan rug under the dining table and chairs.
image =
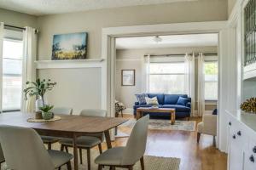
<svg viewBox="0 0 256 170">
<path fill-rule="evenodd" d="M 59 144 L 53 145 L 54 150 L 60 150 Z M 69 153 L 73 153 L 73 150 L 69 148 Z M 99 156 L 99 151 L 96 149 L 91 150 L 91 170 L 97 170 L 97 165 L 94 163 L 94 159 L 96 156 Z M 178 170 L 180 159 L 179 158 L 172 158 L 172 157 L 158 157 L 158 156 L 144 156 L 145 161 L 145 169 L 147 170 Z M 73 161 L 72 161 L 73 166 Z M 87 158 L 86 158 L 86 150 L 83 150 L 83 164 L 79 164 L 79 170 L 87 169 Z M 109 167 L 104 167 L 104 170 L 108 170 Z M 124 168 L 116 168 L 116 170 L 123 170 Z M 141 170 L 140 162 L 138 161 L 137 164 L 133 168 L 134 170 Z M 8 170 L 5 163 L 1 170 Z M 46 169 L 45 169 L 46 170 Z M 67 166 L 61 167 L 61 170 L 67 170 Z"/>
</svg>

